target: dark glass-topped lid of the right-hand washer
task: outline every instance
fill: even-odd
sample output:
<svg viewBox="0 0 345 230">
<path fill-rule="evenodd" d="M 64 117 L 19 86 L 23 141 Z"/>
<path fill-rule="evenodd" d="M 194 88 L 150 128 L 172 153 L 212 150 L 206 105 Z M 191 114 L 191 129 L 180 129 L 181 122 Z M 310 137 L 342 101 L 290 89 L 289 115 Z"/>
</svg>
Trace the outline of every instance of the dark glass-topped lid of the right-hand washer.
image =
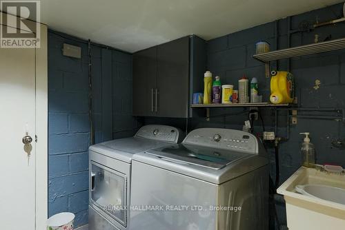
<svg viewBox="0 0 345 230">
<path fill-rule="evenodd" d="M 186 144 L 160 147 L 158 149 L 148 151 L 148 154 L 165 158 L 165 160 L 179 160 L 181 163 L 188 163 L 190 165 L 198 165 L 211 169 L 221 169 L 236 160 L 251 156 L 251 154 L 238 151 Z"/>
</svg>

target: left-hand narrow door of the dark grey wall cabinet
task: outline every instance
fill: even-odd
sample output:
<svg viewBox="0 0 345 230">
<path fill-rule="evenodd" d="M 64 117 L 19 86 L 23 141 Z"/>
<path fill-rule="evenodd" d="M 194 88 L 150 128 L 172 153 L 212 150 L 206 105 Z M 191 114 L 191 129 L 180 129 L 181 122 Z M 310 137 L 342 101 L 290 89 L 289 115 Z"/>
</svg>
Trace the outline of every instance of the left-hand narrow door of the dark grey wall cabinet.
<svg viewBox="0 0 345 230">
<path fill-rule="evenodd" d="M 133 54 L 133 116 L 154 116 L 157 47 Z"/>
</svg>

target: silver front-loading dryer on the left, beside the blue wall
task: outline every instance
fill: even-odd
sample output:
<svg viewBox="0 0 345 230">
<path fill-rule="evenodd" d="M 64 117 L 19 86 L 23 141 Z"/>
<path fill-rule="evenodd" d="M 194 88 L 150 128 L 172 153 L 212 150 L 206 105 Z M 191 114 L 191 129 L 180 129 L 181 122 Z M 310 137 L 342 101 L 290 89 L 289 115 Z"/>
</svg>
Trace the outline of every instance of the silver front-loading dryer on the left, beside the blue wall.
<svg viewBox="0 0 345 230">
<path fill-rule="evenodd" d="M 133 154 L 183 138 L 175 127 L 146 125 L 133 137 L 90 146 L 89 230 L 128 229 Z"/>
</svg>

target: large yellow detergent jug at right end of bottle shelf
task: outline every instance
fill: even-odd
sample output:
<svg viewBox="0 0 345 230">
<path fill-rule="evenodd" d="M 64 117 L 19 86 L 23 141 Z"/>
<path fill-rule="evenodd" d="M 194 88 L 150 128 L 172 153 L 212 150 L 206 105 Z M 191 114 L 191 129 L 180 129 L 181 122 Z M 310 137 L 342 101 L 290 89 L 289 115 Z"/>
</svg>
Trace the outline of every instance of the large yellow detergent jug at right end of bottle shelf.
<svg viewBox="0 0 345 230">
<path fill-rule="evenodd" d="M 270 80 L 270 102 L 273 104 L 292 103 L 294 96 L 293 74 L 285 71 L 273 71 Z"/>
</svg>

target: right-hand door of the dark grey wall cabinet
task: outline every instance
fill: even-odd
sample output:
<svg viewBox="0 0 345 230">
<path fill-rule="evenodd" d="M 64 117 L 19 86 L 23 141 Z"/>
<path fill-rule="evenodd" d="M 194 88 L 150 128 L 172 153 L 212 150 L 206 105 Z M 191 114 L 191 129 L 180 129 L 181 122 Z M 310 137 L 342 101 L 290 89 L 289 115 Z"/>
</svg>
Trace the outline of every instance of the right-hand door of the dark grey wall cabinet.
<svg viewBox="0 0 345 230">
<path fill-rule="evenodd" d="M 157 116 L 188 117 L 189 37 L 157 48 Z"/>
</svg>

